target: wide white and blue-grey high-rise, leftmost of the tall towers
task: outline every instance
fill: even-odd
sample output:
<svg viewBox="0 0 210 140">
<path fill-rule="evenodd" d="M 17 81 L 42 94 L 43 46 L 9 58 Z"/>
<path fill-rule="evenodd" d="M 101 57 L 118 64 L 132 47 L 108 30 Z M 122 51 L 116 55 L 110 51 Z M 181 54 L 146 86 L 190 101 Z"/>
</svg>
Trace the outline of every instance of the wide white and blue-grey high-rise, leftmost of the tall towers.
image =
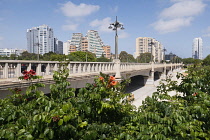
<svg viewBox="0 0 210 140">
<path fill-rule="evenodd" d="M 27 29 L 27 50 L 36 54 L 54 52 L 53 29 L 47 25 Z"/>
</svg>

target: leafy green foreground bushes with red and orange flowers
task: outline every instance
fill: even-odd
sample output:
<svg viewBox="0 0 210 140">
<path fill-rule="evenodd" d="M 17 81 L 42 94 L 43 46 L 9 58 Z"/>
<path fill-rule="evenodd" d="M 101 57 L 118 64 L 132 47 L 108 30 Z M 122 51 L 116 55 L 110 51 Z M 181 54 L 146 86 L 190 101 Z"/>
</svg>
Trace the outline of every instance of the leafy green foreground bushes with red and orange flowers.
<svg viewBox="0 0 210 140">
<path fill-rule="evenodd" d="M 55 71 L 55 84 L 44 95 L 34 83 L 36 73 L 24 71 L 30 83 L 26 92 L 0 99 L 0 139 L 53 140 L 191 140 L 210 138 L 210 67 L 190 65 L 180 84 L 169 76 L 157 92 L 136 108 L 124 93 L 129 80 L 120 83 L 101 73 L 93 84 L 76 92 L 69 88 L 69 70 Z M 170 91 L 177 95 L 170 96 Z M 141 94 L 141 93 L 139 93 Z"/>
</svg>

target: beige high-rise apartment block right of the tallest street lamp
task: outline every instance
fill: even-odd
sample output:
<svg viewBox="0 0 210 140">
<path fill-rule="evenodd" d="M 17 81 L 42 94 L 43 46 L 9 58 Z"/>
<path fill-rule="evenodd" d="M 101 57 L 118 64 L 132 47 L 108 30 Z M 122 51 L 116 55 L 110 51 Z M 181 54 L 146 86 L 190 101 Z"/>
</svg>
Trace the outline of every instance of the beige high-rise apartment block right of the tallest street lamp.
<svg viewBox="0 0 210 140">
<path fill-rule="evenodd" d="M 138 37 L 136 38 L 136 52 L 135 58 L 142 53 L 152 53 L 153 61 L 160 62 L 163 60 L 162 44 L 151 37 Z"/>
</svg>

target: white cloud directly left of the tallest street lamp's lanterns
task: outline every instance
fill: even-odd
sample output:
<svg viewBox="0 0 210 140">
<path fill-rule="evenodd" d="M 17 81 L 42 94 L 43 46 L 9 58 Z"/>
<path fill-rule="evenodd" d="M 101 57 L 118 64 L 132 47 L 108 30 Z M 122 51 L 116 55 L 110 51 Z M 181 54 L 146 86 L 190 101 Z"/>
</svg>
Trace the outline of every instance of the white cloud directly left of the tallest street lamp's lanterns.
<svg viewBox="0 0 210 140">
<path fill-rule="evenodd" d="M 107 17 L 102 20 L 96 19 L 96 20 L 90 22 L 89 25 L 91 27 L 97 28 L 97 30 L 101 31 L 101 32 L 111 32 L 112 30 L 108 29 L 110 23 L 112 23 L 111 18 Z"/>
</svg>

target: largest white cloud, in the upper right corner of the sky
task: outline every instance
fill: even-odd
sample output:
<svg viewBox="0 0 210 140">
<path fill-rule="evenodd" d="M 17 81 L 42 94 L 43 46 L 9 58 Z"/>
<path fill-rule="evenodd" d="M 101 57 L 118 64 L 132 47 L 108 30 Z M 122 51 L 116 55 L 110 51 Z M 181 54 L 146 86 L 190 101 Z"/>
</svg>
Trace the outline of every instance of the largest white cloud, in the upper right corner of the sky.
<svg viewBox="0 0 210 140">
<path fill-rule="evenodd" d="M 191 25 L 193 19 L 201 14 L 206 4 L 202 0 L 171 0 L 174 4 L 165 8 L 159 15 L 159 20 L 152 24 L 160 33 L 169 33 Z"/>
</svg>

